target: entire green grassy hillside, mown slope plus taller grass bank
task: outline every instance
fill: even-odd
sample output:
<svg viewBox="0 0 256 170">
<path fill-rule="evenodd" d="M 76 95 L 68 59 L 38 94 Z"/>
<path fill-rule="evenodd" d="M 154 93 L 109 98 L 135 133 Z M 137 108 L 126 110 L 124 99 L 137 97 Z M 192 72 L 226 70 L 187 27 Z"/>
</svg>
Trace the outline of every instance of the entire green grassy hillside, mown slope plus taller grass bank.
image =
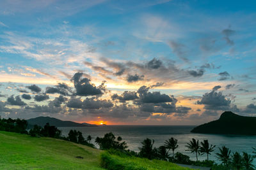
<svg viewBox="0 0 256 170">
<path fill-rule="evenodd" d="M 118 170 L 119 167 L 146 170 L 188 169 L 161 160 L 109 155 L 101 150 L 61 139 L 35 138 L 0 131 L 0 169 L 103 169 L 100 164 L 108 169 L 115 167 Z"/>
</svg>

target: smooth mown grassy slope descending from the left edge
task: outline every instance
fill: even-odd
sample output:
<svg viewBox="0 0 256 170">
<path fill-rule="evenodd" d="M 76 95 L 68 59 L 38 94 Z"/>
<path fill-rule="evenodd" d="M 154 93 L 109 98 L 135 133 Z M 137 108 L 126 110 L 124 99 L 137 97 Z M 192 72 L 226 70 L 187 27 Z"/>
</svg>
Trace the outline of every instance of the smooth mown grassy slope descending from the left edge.
<svg viewBox="0 0 256 170">
<path fill-rule="evenodd" d="M 102 169 L 99 155 L 68 141 L 0 131 L 0 169 Z"/>
</svg>

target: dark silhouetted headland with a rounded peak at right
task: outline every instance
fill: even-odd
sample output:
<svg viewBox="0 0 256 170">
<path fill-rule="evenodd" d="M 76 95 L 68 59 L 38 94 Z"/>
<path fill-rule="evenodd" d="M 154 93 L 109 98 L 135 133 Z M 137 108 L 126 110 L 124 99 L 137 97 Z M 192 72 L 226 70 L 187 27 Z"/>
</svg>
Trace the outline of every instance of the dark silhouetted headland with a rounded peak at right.
<svg viewBox="0 0 256 170">
<path fill-rule="evenodd" d="M 256 135 L 256 117 L 243 117 L 225 111 L 218 120 L 195 127 L 191 132 L 203 134 Z"/>
</svg>

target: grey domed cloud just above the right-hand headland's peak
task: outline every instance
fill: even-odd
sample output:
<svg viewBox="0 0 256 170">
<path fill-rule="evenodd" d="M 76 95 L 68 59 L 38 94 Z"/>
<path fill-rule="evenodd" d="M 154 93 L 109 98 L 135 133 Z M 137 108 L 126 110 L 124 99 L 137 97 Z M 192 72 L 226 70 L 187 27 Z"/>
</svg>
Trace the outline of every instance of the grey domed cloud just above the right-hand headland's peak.
<svg viewBox="0 0 256 170">
<path fill-rule="evenodd" d="M 197 101 L 196 104 L 204 104 L 206 110 L 229 110 L 230 99 L 225 99 L 225 96 L 221 92 L 209 92 L 205 93 L 201 101 Z"/>
</svg>

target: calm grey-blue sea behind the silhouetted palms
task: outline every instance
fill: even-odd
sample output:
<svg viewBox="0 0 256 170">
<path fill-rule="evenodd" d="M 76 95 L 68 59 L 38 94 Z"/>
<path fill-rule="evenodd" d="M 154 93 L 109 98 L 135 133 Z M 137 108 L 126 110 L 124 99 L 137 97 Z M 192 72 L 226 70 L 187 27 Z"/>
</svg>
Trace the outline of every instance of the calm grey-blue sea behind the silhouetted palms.
<svg viewBox="0 0 256 170">
<path fill-rule="evenodd" d="M 62 134 L 67 136 L 70 129 L 76 129 L 83 133 L 84 138 L 88 135 L 93 137 L 92 143 L 95 144 L 97 136 L 103 137 L 108 132 L 113 132 L 116 138 L 121 136 L 123 141 L 128 145 L 128 149 L 139 152 L 139 147 L 143 139 L 154 139 L 154 146 L 164 145 L 164 141 L 169 138 L 178 139 L 179 148 L 175 152 L 181 152 L 195 160 L 195 154 L 186 151 L 186 144 L 190 139 L 195 138 L 199 141 L 208 139 L 210 145 L 216 145 L 214 152 L 209 155 L 209 159 L 219 162 L 216 158 L 216 152 L 219 152 L 218 147 L 226 146 L 231 152 L 247 152 L 252 154 L 252 147 L 256 147 L 256 136 L 237 136 L 237 135 L 217 135 L 217 134 L 195 134 L 191 133 L 191 129 L 195 126 L 184 125 L 108 125 L 100 127 L 58 127 Z M 95 146 L 99 147 L 97 144 Z M 199 160 L 205 160 L 206 155 L 200 155 Z M 256 160 L 253 162 L 256 165 Z"/>
</svg>

